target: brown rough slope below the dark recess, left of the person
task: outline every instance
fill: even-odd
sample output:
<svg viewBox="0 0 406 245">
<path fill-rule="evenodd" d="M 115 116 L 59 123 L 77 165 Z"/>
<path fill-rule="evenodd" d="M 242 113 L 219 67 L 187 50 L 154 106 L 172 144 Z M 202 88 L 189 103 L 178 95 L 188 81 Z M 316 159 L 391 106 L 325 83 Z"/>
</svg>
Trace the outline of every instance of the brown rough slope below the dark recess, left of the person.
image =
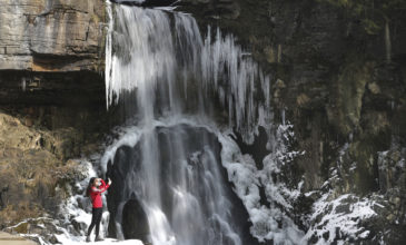
<svg viewBox="0 0 406 245">
<path fill-rule="evenodd" d="M 0 112 L 0 229 L 55 214 L 66 184 L 82 175 L 79 163 L 67 160 L 78 155 L 79 135 L 73 128 L 36 130 Z"/>
</svg>

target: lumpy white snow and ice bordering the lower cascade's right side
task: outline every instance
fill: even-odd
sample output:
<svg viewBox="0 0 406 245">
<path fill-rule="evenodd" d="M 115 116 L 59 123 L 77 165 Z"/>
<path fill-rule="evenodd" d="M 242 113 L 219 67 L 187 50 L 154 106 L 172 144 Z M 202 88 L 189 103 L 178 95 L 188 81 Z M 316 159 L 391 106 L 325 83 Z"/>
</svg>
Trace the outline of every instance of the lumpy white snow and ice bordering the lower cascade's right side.
<svg viewBox="0 0 406 245">
<path fill-rule="evenodd" d="M 219 134 L 222 145 L 222 165 L 228 178 L 235 185 L 235 192 L 246 206 L 251 226 L 251 234 L 260 242 L 274 241 L 274 244 L 299 244 L 304 237 L 287 212 L 291 202 L 299 195 L 298 189 L 288 188 L 283 182 L 275 182 L 273 174 L 281 171 L 280 167 L 290 163 L 303 153 L 289 151 L 285 145 L 291 126 L 279 126 L 276 130 L 276 144 L 273 151 L 264 159 L 264 169 L 257 169 L 251 156 L 242 155 L 237 144 L 229 136 L 230 131 Z M 265 187 L 269 206 L 261 205 L 259 188 Z M 283 207 L 283 208 L 281 208 Z"/>
</svg>

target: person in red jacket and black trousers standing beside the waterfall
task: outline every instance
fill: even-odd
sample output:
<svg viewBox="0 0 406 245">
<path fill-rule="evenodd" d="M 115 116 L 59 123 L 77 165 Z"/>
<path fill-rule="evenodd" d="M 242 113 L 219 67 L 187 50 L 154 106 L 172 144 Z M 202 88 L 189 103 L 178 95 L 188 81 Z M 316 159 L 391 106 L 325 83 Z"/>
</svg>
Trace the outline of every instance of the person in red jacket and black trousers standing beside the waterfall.
<svg viewBox="0 0 406 245">
<path fill-rule="evenodd" d="M 100 229 L 100 222 L 101 222 L 101 215 L 102 215 L 102 199 L 101 194 L 106 192 L 111 185 L 111 179 L 108 178 L 108 184 L 105 183 L 101 178 L 92 177 L 90 178 L 88 188 L 86 190 L 86 195 L 90 196 L 91 204 L 92 204 L 92 216 L 91 216 L 91 224 L 88 229 L 88 236 L 86 237 L 86 242 L 91 242 L 90 234 L 93 227 L 96 226 L 96 238 L 95 241 L 102 241 L 102 238 L 99 236 L 99 229 Z"/>
</svg>

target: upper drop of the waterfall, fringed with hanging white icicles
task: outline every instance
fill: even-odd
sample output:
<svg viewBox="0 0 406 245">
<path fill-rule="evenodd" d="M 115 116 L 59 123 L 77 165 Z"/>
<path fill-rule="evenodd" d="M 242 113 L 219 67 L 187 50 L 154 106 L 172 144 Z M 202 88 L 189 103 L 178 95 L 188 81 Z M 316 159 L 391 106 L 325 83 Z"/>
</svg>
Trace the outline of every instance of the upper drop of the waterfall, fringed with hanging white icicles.
<svg viewBox="0 0 406 245">
<path fill-rule="evenodd" d="M 212 91 L 228 111 L 230 126 L 247 141 L 258 122 L 271 117 L 270 77 L 231 35 L 222 37 L 218 28 L 211 33 L 208 27 L 202 40 L 189 14 L 125 6 L 115 10 L 106 51 L 108 107 L 126 92 L 137 91 L 143 119 L 159 112 L 181 114 L 195 104 L 194 110 L 205 114 Z"/>
</svg>

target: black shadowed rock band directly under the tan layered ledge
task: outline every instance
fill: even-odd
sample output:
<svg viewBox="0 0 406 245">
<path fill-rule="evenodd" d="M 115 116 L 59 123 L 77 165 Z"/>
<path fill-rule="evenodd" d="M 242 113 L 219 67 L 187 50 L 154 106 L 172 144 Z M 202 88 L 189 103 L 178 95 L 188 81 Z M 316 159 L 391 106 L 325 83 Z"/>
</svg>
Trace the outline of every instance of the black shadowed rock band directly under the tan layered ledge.
<svg viewBox="0 0 406 245">
<path fill-rule="evenodd" d="M 36 87 L 33 80 L 38 82 Z M 0 69 L 0 105 L 96 108 L 105 100 L 103 82 L 100 74 L 87 70 L 65 74 Z M 26 122 L 36 124 L 29 117 Z"/>
</svg>

